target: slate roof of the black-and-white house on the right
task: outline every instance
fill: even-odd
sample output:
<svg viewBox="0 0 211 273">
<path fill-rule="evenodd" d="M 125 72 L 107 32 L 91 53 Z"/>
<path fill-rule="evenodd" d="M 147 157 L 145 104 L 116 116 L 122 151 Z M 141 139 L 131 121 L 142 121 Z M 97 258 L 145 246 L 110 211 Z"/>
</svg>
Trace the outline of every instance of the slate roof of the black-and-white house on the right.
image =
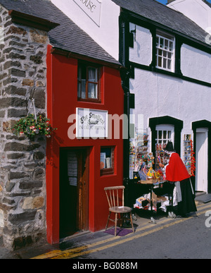
<svg viewBox="0 0 211 273">
<path fill-rule="evenodd" d="M 132 11 L 133 13 L 147 18 L 155 23 L 164 25 L 179 34 L 186 37 L 191 37 L 193 40 L 197 40 L 200 43 L 205 44 L 205 37 L 207 32 L 200 28 L 191 19 L 184 16 L 179 11 L 174 11 L 158 1 L 155 0 L 112 0 L 115 4 L 121 8 Z M 207 44 L 205 44 L 208 46 Z"/>
</svg>

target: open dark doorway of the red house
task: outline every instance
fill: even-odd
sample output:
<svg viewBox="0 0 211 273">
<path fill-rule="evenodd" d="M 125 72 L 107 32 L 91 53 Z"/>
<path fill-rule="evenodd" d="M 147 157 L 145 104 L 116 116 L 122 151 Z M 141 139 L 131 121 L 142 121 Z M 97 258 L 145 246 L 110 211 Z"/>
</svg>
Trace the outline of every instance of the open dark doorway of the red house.
<svg viewBox="0 0 211 273">
<path fill-rule="evenodd" d="M 59 236 L 89 230 L 89 150 L 60 149 Z"/>
</svg>

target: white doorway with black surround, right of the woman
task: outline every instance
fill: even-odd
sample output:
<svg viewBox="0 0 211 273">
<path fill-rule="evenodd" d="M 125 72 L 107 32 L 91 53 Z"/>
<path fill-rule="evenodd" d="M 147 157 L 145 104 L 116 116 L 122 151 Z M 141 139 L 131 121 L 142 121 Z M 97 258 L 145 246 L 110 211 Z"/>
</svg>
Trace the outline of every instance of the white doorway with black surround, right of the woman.
<svg viewBox="0 0 211 273">
<path fill-rule="evenodd" d="M 208 190 L 208 129 L 196 129 L 196 191 Z"/>
</svg>

